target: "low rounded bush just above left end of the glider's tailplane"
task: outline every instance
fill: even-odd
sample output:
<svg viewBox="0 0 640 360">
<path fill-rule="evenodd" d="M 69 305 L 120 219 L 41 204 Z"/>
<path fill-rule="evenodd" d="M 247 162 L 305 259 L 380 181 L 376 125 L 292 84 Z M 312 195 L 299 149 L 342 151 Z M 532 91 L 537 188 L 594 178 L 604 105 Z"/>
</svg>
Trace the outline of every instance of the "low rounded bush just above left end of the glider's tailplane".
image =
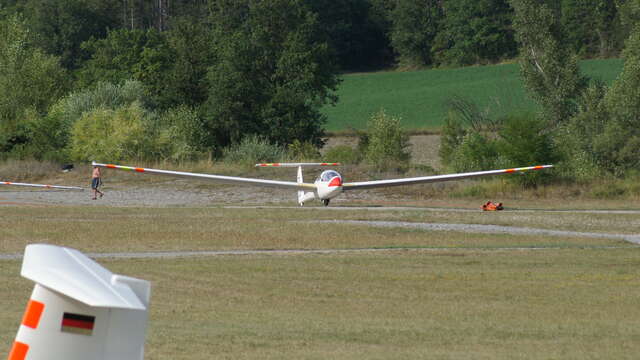
<svg viewBox="0 0 640 360">
<path fill-rule="evenodd" d="M 240 143 L 225 148 L 222 153 L 225 162 L 241 165 L 287 159 L 287 152 L 283 147 L 271 144 L 258 135 L 247 136 Z"/>
</svg>

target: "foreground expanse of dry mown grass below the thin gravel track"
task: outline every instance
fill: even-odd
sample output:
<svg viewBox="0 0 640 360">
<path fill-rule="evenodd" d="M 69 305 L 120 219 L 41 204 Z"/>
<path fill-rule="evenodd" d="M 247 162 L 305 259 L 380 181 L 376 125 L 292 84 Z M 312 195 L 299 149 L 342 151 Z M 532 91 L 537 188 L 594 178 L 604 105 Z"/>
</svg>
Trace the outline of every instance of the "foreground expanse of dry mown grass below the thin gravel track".
<svg viewBox="0 0 640 360">
<path fill-rule="evenodd" d="M 100 260 L 152 282 L 146 359 L 632 359 L 640 251 Z M 0 262 L 0 352 L 32 283 Z"/>
</svg>

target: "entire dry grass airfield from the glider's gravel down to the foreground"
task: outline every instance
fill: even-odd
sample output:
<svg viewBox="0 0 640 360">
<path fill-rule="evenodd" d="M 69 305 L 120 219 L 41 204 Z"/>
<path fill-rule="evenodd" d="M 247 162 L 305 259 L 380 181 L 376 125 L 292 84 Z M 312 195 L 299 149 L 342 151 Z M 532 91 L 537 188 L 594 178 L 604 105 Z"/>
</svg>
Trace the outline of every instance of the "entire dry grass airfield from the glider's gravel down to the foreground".
<svg viewBox="0 0 640 360">
<path fill-rule="evenodd" d="M 21 253 L 26 244 L 43 242 L 88 253 L 376 249 L 100 258 L 115 273 L 152 282 L 146 359 L 635 358 L 640 350 L 635 244 L 314 223 L 345 219 L 640 233 L 635 212 L 523 211 L 530 203 L 509 204 L 496 213 L 475 206 L 345 211 L 9 205 L 0 207 L 0 253 Z M 20 260 L 0 260 L 4 353 L 32 289 L 20 277 L 20 265 Z"/>
</svg>

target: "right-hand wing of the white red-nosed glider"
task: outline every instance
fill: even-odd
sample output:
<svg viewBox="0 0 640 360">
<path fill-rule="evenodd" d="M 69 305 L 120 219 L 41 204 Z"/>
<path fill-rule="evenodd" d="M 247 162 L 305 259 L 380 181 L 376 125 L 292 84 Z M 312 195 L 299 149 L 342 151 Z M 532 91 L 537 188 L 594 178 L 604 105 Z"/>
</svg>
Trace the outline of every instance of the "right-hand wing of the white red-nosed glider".
<svg viewBox="0 0 640 360">
<path fill-rule="evenodd" d="M 404 179 L 361 181 L 361 182 L 344 183 L 342 185 L 342 190 L 347 191 L 347 190 L 371 189 L 371 188 L 378 188 L 378 187 L 412 185 L 412 184 L 421 184 L 421 183 L 433 183 L 433 182 L 467 179 L 467 178 L 480 177 L 480 176 L 511 174 L 516 172 L 540 170 L 540 169 L 546 169 L 551 167 L 553 167 L 553 165 L 539 165 L 539 166 L 529 166 L 529 167 L 513 168 L 513 169 L 476 171 L 476 172 L 468 172 L 468 173 L 460 173 L 460 174 L 422 176 L 422 177 L 404 178 Z"/>
</svg>

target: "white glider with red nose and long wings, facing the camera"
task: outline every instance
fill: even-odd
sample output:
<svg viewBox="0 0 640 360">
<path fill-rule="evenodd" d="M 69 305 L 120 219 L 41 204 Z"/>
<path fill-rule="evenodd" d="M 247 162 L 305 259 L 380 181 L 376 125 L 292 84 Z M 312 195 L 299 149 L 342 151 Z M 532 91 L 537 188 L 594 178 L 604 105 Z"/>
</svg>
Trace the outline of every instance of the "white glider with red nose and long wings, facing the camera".
<svg viewBox="0 0 640 360">
<path fill-rule="evenodd" d="M 265 186 L 275 187 L 298 191 L 298 203 L 302 206 L 305 202 L 318 199 L 323 202 L 325 206 L 329 205 L 329 201 L 336 196 L 340 195 L 343 191 L 352 191 L 360 189 L 372 189 L 378 187 L 389 186 L 401 186 L 412 185 L 432 182 L 443 182 L 451 180 L 468 179 L 480 176 L 499 175 L 499 174 L 511 174 L 516 172 L 523 172 L 529 170 L 541 170 L 553 167 L 553 165 L 539 165 L 529 166 L 512 169 L 502 170 L 489 170 L 489 171 L 476 171 L 460 174 L 448 174 L 448 175 L 435 175 L 435 176 L 420 176 L 413 178 L 401 178 L 401 179 L 388 179 L 388 180 L 375 180 L 375 181 L 360 181 L 345 183 L 342 181 L 342 176 L 335 170 L 325 170 L 313 183 L 305 183 L 302 179 L 302 167 L 305 166 L 337 166 L 338 163 L 275 163 L 275 164 L 256 164 L 256 167 L 297 167 L 298 178 L 297 182 L 293 181 L 279 181 L 279 180 L 264 180 L 253 179 L 236 176 L 224 176 L 224 175 L 210 175 L 210 174 L 198 174 L 183 171 L 170 171 L 170 170 L 158 170 L 147 169 L 131 166 L 113 165 L 113 164 L 99 164 L 93 162 L 93 166 L 104 167 L 108 169 L 129 170 L 146 174 L 157 175 L 169 175 L 177 177 L 197 178 L 202 180 L 209 180 L 214 182 L 235 184 L 235 185 L 248 185 L 248 186 Z"/>
</svg>

